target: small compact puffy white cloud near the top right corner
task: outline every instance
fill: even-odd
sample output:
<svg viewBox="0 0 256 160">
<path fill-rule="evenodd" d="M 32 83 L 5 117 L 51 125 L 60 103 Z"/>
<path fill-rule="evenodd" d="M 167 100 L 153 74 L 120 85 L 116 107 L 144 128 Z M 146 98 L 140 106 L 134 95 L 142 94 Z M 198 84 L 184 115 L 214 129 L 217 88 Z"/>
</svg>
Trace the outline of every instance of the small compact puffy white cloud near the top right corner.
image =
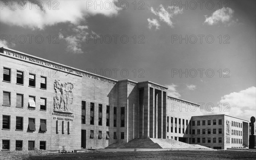
<svg viewBox="0 0 256 160">
<path fill-rule="evenodd" d="M 215 25 L 215 24 L 218 24 L 219 22 L 222 22 L 225 24 L 231 21 L 228 24 L 228 26 L 230 26 L 236 21 L 238 21 L 238 19 L 236 21 L 232 20 L 233 14 L 234 14 L 234 11 L 231 8 L 223 7 L 221 9 L 218 9 L 217 11 L 214 11 L 210 17 L 207 17 L 206 15 L 204 23 L 207 23 L 208 25 Z"/>
</svg>

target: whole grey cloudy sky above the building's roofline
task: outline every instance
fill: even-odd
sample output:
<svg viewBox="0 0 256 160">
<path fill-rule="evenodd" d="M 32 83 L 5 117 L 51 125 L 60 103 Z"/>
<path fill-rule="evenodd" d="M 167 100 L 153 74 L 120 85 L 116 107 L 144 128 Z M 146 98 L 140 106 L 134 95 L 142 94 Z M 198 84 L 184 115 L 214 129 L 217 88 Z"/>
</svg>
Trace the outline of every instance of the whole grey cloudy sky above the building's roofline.
<svg viewBox="0 0 256 160">
<path fill-rule="evenodd" d="M 0 1 L 0 46 L 256 116 L 254 0 Z"/>
</svg>

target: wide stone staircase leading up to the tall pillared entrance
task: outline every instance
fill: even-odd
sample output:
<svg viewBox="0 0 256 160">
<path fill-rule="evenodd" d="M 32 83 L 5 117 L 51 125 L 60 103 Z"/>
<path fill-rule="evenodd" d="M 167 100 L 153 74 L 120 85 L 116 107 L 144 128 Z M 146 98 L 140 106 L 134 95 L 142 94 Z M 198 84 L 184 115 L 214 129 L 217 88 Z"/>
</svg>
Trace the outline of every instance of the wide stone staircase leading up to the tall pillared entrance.
<svg viewBox="0 0 256 160">
<path fill-rule="evenodd" d="M 106 148 L 144 148 L 144 149 L 210 149 L 198 144 L 188 144 L 172 139 L 140 138 L 128 143 L 113 143 Z"/>
</svg>

